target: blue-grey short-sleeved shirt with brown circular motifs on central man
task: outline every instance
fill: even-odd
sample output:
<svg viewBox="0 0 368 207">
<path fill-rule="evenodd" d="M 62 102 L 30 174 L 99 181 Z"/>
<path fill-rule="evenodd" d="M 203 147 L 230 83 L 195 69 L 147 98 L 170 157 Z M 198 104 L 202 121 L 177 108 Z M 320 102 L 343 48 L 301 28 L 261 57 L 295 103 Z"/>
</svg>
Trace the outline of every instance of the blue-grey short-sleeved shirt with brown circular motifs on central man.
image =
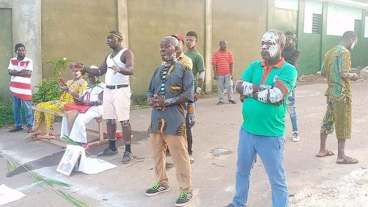
<svg viewBox="0 0 368 207">
<path fill-rule="evenodd" d="M 154 72 L 147 91 L 166 99 L 183 96 L 193 102 L 193 73 L 177 62 L 174 66 L 160 65 Z M 149 133 L 186 135 L 187 103 L 169 105 L 163 109 L 152 109 Z"/>
</svg>

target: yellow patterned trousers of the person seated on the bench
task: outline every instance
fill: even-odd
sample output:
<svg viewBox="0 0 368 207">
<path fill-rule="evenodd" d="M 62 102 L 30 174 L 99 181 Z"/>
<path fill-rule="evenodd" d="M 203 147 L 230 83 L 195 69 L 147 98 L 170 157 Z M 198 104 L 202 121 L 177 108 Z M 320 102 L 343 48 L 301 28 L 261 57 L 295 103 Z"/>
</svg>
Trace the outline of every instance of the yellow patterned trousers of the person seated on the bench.
<svg viewBox="0 0 368 207">
<path fill-rule="evenodd" d="M 64 112 L 64 105 L 68 102 L 56 100 L 56 101 L 49 101 L 49 102 L 42 102 L 37 104 L 36 106 L 43 109 L 53 110 Z M 42 112 L 41 111 L 34 111 L 34 119 L 33 119 L 33 127 L 32 130 L 37 130 L 40 127 L 42 119 Z M 50 113 L 44 113 L 45 119 L 45 128 L 46 134 L 53 135 L 54 134 L 54 115 Z"/>
</svg>

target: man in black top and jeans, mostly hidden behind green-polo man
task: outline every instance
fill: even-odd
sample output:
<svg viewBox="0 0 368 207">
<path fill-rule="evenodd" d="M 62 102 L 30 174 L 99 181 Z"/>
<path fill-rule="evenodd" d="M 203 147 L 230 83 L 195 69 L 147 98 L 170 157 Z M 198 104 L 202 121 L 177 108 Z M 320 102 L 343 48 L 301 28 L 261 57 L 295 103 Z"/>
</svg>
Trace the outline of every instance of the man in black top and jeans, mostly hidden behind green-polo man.
<svg viewBox="0 0 368 207">
<path fill-rule="evenodd" d="M 295 49 L 295 35 L 293 32 L 288 31 L 285 32 L 286 35 L 286 42 L 285 42 L 285 48 L 283 52 L 281 53 L 281 57 L 285 58 L 285 61 L 294 65 L 295 68 L 297 68 L 297 63 L 300 58 L 300 50 Z M 299 132 L 297 127 L 297 115 L 295 110 L 295 89 L 293 89 L 289 95 L 289 99 L 286 102 L 288 112 L 290 114 L 290 120 L 291 120 L 291 126 L 293 130 L 292 134 L 292 141 L 293 142 L 299 142 Z"/>
</svg>

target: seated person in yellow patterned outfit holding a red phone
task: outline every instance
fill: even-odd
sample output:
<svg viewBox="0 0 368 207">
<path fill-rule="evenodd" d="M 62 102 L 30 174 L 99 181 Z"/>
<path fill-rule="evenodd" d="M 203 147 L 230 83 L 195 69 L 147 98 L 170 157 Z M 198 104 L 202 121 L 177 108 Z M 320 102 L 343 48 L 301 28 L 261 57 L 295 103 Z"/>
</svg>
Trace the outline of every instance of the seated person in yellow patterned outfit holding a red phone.
<svg viewBox="0 0 368 207">
<path fill-rule="evenodd" d="M 82 78 L 84 72 L 82 67 L 70 66 L 71 72 L 73 74 L 73 79 L 66 81 L 66 83 L 60 82 L 61 95 L 58 100 L 42 102 L 36 106 L 43 109 L 64 112 L 65 104 L 74 103 L 74 99 L 78 99 L 82 94 L 83 90 L 87 87 L 87 82 Z M 41 111 L 34 111 L 33 127 L 32 132 L 28 134 L 25 139 L 35 138 L 36 135 L 40 134 L 39 130 L 42 119 Z M 44 113 L 46 134 L 42 136 L 37 136 L 38 139 L 55 139 L 54 135 L 54 115 L 50 113 Z"/>
</svg>

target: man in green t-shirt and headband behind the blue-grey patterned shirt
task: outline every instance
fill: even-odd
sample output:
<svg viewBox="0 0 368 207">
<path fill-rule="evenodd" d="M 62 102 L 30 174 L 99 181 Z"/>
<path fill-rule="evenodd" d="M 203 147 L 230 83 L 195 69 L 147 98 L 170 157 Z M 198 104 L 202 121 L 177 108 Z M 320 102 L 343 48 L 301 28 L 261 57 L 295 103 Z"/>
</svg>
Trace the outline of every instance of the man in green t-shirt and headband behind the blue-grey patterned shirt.
<svg viewBox="0 0 368 207">
<path fill-rule="evenodd" d="M 191 163 L 194 163 L 194 157 L 192 156 L 192 130 L 195 123 L 195 112 L 196 112 L 196 101 L 198 100 L 199 93 L 203 88 L 204 83 L 204 60 L 203 56 L 197 51 L 196 45 L 197 45 L 197 33 L 193 31 L 189 31 L 186 35 L 186 46 L 188 48 L 187 52 L 184 54 L 188 57 L 190 57 L 193 61 L 193 77 L 194 77 L 194 103 L 188 104 L 188 114 L 187 114 L 187 141 L 188 141 L 188 153 L 189 153 L 189 159 Z M 197 77 L 197 74 L 199 74 L 199 78 Z"/>
</svg>

